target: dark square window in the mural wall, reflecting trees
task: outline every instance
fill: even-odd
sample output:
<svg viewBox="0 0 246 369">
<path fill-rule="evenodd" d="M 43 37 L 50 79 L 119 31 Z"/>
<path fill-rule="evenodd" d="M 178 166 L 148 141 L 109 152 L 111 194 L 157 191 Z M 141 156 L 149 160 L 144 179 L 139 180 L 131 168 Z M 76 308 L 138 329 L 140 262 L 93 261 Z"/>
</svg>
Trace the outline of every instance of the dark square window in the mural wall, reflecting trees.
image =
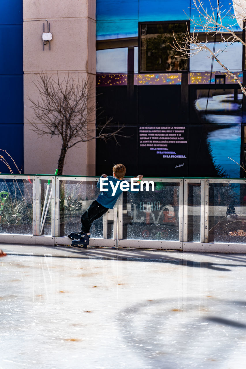
<svg viewBox="0 0 246 369">
<path fill-rule="evenodd" d="M 188 59 L 176 56 L 178 53 L 171 46 L 174 40 L 172 32 L 180 41 L 187 32 L 186 23 L 146 23 L 140 27 L 141 72 L 188 70 Z"/>
</svg>

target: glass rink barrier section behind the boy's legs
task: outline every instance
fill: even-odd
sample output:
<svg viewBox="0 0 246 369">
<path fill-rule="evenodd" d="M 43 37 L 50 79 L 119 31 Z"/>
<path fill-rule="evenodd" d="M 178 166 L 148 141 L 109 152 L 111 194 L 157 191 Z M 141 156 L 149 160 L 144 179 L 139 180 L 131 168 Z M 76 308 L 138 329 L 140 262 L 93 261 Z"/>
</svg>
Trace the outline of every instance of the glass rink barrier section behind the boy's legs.
<svg viewBox="0 0 246 369">
<path fill-rule="evenodd" d="M 60 237 L 81 229 L 81 215 L 97 199 L 96 181 L 60 181 Z M 113 237 L 113 220 L 108 221 L 108 235 Z M 111 226 L 110 226 L 111 224 Z M 93 238 L 103 238 L 103 218 L 95 220 L 90 228 Z"/>
</svg>

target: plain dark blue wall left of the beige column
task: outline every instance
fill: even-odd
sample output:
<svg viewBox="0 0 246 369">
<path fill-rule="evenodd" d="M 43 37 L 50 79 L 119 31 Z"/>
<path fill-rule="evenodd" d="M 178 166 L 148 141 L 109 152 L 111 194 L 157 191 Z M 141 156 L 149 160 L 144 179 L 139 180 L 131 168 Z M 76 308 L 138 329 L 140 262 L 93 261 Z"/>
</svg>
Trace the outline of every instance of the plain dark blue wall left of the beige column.
<svg viewBox="0 0 246 369">
<path fill-rule="evenodd" d="M 12 156 L 19 169 L 24 161 L 22 8 L 22 0 L 0 1 L 0 148 Z M 3 162 L 0 172 L 9 172 Z"/>
</svg>

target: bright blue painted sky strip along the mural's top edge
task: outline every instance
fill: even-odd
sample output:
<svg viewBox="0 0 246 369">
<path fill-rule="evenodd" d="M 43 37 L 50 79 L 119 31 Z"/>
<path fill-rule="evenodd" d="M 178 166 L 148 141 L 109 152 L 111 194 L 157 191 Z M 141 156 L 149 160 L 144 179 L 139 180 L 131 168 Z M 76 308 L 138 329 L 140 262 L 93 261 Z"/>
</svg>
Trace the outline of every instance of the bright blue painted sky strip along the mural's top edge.
<svg viewBox="0 0 246 369">
<path fill-rule="evenodd" d="M 203 1 L 203 3 L 205 8 L 210 8 L 208 0 Z M 229 10 L 230 5 L 228 1 L 220 1 L 220 3 L 225 12 Z M 217 7 L 216 0 L 211 0 L 211 4 L 214 8 Z M 187 15 L 185 13 L 189 17 L 197 17 L 197 11 L 194 10 L 192 1 L 97 0 L 97 39 L 137 36 L 138 22 L 186 20 Z M 229 15 L 225 17 L 223 24 L 232 24 Z M 191 30 L 193 29 L 191 24 Z M 233 30 L 240 30 L 238 24 L 233 25 Z"/>
</svg>

